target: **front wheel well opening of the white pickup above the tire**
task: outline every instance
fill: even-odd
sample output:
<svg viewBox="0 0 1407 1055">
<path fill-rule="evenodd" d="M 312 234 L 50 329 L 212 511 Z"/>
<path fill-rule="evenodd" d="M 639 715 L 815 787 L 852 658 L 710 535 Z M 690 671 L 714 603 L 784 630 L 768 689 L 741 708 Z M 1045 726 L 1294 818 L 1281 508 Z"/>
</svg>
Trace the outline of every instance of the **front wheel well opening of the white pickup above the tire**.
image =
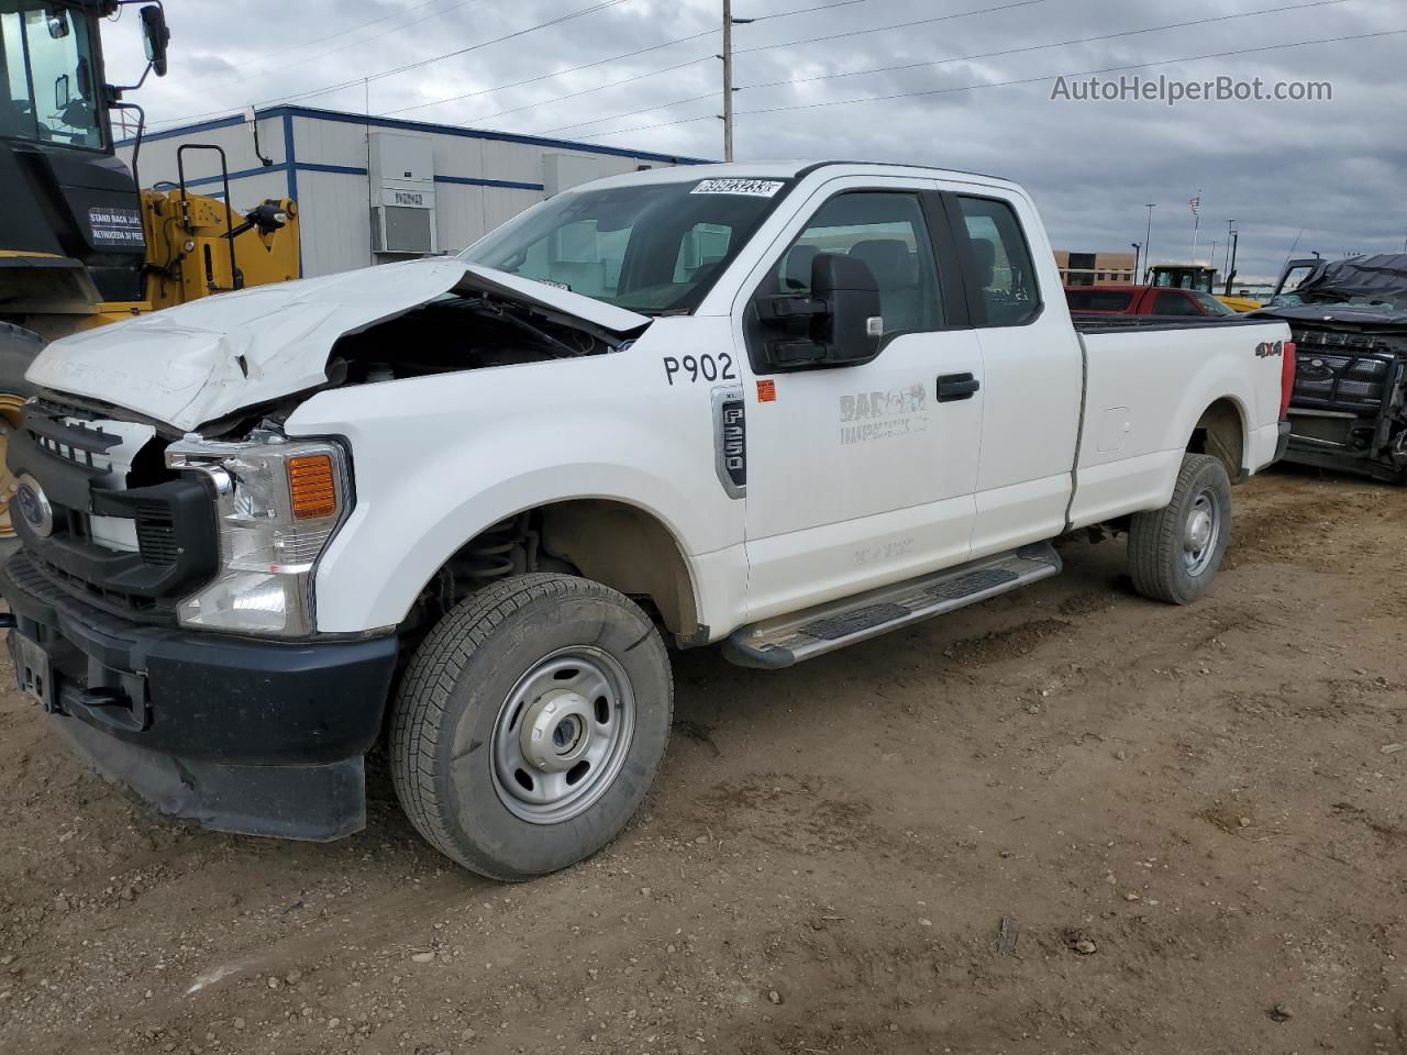
<svg viewBox="0 0 1407 1055">
<path fill-rule="evenodd" d="M 490 525 L 440 565 L 402 630 L 425 632 L 474 591 L 530 571 L 618 589 L 680 637 L 699 630 L 694 581 L 674 536 L 643 509 L 601 498 L 554 502 Z"/>
</svg>

